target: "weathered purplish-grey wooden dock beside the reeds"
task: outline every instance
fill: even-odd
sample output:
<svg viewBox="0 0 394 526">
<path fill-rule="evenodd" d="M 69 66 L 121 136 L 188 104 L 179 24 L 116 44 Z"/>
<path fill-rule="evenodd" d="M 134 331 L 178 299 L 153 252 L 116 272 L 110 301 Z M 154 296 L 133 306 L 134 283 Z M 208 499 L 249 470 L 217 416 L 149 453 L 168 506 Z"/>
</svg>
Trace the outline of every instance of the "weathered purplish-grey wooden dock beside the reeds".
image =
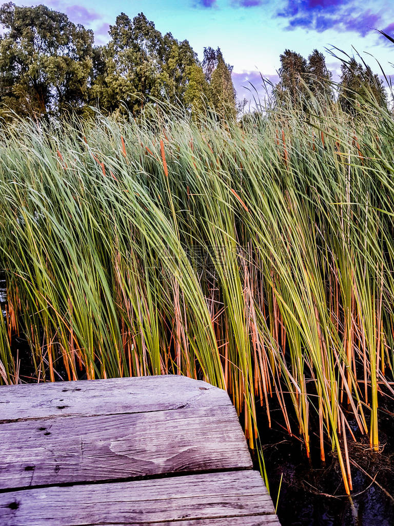
<svg viewBox="0 0 394 526">
<path fill-rule="evenodd" d="M 182 376 L 0 387 L 2 526 L 279 526 L 227 393 Z"/>
</svg>

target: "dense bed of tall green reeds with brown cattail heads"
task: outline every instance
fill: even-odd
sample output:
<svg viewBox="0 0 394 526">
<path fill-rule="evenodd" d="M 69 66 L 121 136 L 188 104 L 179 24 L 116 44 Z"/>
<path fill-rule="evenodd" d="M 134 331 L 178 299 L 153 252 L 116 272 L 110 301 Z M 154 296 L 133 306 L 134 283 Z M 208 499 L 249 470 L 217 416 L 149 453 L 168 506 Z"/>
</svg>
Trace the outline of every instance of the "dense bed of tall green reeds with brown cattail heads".
<svg viewBox="0 0 394 526">
<path fill-rule="evenodd" d="M 312 102 L 243 125 L 167 108 L 2 132 L 0 376 L 180 373 L 272 404 L 306 454 L 379 448 L 393 396 L 394 122 Z M 274 402 L 273 402 L 274 400 Z M 295 414 L 293 429 L 290 413 Z M 357 423 L 357 432 L 349 423 Z"/>
</svg>

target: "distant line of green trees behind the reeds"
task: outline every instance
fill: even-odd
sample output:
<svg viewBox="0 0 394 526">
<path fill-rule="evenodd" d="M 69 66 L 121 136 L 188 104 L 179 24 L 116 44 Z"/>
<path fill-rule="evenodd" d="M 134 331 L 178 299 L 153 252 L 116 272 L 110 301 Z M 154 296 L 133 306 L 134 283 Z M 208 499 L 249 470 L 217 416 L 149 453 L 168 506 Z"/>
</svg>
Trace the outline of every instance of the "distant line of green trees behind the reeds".
<svg viewBox="0 0 394 526">
<path fill-rule="evenodd" d="M 220 48 L 204 48 L 200 62 L 187 40 L 162 35 L 140 13 L 125 13 L 109 28 L 109 42 L 94 45 L 94 33 L 72 23 L 66 14 L 44 5 L 0 8 L 0 116 L 88 115 L 91 107 L 107 113 L 141 111 L 148 99 L 181 104 L 192 114 L 212 108 L 235 117 L 245 101 L 237 100 L 232 66 Z M 286 49 L 281 55 L 275 104 L 303 107 L 307 99 L 336 99 L 352 112 L 357 94 L 367 88 L 379 104 L 387 104 L 380 78 L 366 64 L 349 58 L 341 66 L 335 90 L 325 57 L 317 49 L 306 60 Z M 354 96 L 352 96 L 352 94 Z"/>
</svg>

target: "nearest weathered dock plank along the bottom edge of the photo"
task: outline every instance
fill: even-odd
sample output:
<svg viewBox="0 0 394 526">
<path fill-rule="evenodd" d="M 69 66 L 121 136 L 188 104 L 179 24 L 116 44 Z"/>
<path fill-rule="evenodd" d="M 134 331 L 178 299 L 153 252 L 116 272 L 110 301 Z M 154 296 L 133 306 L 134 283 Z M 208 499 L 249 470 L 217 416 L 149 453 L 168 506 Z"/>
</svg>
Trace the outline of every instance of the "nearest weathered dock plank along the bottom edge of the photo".
<svg viewBox="0 0 394 526">
<path fill-rule="evenodd" d="M 266 515 L 275 517 L 274 507 L 260 474 L 252 470 L 0 494 L 3 526 L 143 526 L 172 521 L 182 526 L 255 526 L 267 523 Z"/>
</svg>

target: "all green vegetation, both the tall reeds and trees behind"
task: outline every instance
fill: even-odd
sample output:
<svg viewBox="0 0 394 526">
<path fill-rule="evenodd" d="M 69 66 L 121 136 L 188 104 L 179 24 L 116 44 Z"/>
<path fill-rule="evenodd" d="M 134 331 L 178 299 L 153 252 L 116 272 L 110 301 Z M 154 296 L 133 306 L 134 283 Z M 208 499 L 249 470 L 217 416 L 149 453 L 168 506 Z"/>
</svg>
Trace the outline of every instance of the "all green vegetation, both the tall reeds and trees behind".
<svg viewBox="0 0 394 526">
<path fill-rule="evenodd" d="M 202 379 L 229 391 L 267 487 L 258 430 L 279 410 L 351 494 L 351 453 L 382 450 L 394 399 L 382 80 L 337 49 L 335 84 L 318 50 L 286 49 L 245 113 L 220 48 L 200 62 L 143 13 L 105 46 L 43 5 L 0 23 L 0 384 Z"/>
</svg>

